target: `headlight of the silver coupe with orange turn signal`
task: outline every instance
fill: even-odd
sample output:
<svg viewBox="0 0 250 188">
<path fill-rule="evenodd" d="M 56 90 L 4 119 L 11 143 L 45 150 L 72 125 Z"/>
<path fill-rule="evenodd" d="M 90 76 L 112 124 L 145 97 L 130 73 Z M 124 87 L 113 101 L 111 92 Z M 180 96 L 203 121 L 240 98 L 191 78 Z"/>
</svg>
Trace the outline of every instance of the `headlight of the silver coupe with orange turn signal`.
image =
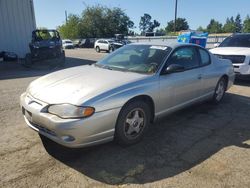
<svg viewBox="0 0 250 188">
<path fill-rule="evenodd" d="M 74 106 L 72 104 L 56 104 L 48 108 L 48 112 L 64 119 L 84 118 L 94 114 L 92 107 Z"/>
</svg>

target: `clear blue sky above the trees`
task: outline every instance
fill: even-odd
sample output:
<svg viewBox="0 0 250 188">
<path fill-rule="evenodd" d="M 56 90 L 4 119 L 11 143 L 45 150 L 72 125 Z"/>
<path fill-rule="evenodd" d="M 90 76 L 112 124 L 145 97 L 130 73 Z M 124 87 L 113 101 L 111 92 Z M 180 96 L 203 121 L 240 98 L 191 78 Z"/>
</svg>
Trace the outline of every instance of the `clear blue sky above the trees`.
<svg viewBox="0 0 250 188">
<path fill-rule="evenodd" d="M 86 6 L 119 7 L 135 23 L 139 32 L 140 17 L 148 13 L 165 28 L 174 19 L 175 0 L 33 0 L 37 27 L 54 29 L 65 23 L 68 14 L 80 15 Z M 225 23 L 227 17 L 250 15 L 250 0 L 178 0 L 177 17 L 186 18 L 190 29 L 206 27 L 214 18 Z"/>
</svg>

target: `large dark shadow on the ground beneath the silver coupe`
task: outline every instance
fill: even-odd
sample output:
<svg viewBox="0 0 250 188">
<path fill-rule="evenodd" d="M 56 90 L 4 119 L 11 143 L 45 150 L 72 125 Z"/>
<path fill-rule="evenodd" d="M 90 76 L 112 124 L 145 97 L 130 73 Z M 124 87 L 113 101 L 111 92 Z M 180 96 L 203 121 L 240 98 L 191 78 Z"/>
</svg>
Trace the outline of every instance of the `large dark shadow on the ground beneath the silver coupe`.
<svg viewBox="0 0 250 188">
<path fill-rule="evenodd" d="M 226 94 L 220 105 L 202 103 L 158 120 L 140 143 L 111 142 L 66 149 L 41 136 L 47 152 L 78 172 L 111 185 L 144 184 L 178 175 L 228 146 L 250 148 L 250 98 Z"/>
</svg>

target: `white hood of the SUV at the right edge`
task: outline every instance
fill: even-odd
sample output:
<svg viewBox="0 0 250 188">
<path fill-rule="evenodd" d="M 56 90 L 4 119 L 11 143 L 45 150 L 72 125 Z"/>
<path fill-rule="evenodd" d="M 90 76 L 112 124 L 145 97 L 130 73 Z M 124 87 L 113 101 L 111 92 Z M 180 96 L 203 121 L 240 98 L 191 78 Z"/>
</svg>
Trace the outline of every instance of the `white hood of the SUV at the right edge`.
<svg viewBox="0 0 250 188">
<path fill-rule="evenodd" d="M 213 54 L 220 55 L 250 55 L 250 48 L 243 47 L 218 47 L 210 50 Z"/>
</svg>

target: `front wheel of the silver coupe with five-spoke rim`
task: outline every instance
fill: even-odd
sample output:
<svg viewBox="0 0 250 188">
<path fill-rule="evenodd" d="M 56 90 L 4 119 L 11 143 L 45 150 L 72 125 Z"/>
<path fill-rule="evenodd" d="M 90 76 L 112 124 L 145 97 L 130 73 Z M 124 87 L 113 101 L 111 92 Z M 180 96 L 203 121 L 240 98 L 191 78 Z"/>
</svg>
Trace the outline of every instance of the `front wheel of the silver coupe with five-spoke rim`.
<svg viewBox="0 0 250 188">
<path fill-rule="evenodd" d="M 115 141 L 123 146 L 139 142 L 150 124 L 150 108 L 143 101 L 125 105 L 116 122 Z"/>
</svg>

